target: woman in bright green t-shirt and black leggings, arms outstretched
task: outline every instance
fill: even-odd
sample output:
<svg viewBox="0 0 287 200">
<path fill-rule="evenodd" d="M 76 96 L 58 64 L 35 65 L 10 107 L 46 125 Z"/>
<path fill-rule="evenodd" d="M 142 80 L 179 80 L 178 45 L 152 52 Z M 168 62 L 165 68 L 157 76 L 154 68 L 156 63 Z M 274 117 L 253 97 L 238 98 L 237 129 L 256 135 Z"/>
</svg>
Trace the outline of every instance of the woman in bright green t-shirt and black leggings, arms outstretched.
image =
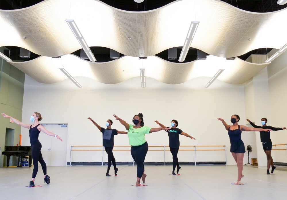
<svg viewBox="0 0 287 200">
<path fill-rule="evenodd" d="M 119 120 L 122 125 L 125 126 L 126 130 L 128 130 L 128 139 L 130 145 L 130 153 L 132 154 L 132 158 L 136 162 L 136 186 L 140 186 L 140 179 L 145 183 L 145 156 L 147 155 L 147 151 L 149 150 L 149 146 L 147 141 L 145 140 L 145 134 L 149 134 L 152 132 L 157 132 L 160 130 L 169 130 L 170 128 L 150 128 L 144 126 L 144 121 L 142 118 L 142 113 L 138 113 L 138 115 L 134 115 L 132 121 L 134 125 L 126 123 L 123 119 L 119 118 L 117 115 L 113 115 L 115 119 Z"/>
</svg>

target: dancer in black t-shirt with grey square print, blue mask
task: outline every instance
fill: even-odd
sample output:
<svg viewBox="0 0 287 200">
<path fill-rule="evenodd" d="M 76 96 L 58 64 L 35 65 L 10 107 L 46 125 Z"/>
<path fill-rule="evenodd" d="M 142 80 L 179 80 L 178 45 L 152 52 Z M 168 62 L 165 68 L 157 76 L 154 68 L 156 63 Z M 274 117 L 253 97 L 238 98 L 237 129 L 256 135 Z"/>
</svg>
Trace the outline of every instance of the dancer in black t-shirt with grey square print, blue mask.
<svg viewBox="0 0 287 200">
<path fill-rule="evenodd" d="M 90 119 L 103 134 L 103 146 L 105 147 L 105 151 L 108 154 L 108 169 L 107 169 L 106 176 L 107 177 L 111 176 L 111 175 L 109 175 L 111 163 L 113 163 L 113 167 L 115 168 L 115 175 L 117 175 L 117 171 L 119 169 L 115 165 L 115 157 L 113 156 L 113 138 L 115 135 L 118 135 L 119 133 L 120 134 L 128 134 L 128 132 L 118 131 L 116 129 L 111 129 L 111 125 L 113 124 L 113 121 L 110 119 L 108 119 L 106 122 L 106 126 L 107 126 L 106 129 L 99 126 L 92 118 L 88 117 L 88 119 Z"/>
</svg>

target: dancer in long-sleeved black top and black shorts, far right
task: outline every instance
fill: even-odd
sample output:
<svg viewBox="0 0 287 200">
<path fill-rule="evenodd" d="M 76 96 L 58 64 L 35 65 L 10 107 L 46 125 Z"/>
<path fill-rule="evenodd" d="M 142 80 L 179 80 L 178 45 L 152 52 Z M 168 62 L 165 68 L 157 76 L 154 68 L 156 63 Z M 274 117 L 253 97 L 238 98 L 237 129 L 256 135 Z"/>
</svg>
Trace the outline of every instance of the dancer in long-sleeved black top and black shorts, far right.
<svg viewBox="0 0 287 200">
<path fill-rule="evenodd" d="M 272 131 L 280 131 L 280 130 L 285 130 L 286 129 L 286 127 L 274 128 L 272 126 L 267 126 L 266 125 L 267 119 L 265 117 L 263 117 L 261 119 L 262 126 L 256 126 L 249 119 L 246 119 L 246 120 L 251 124 L 251 126 L 253 126 L 255 128 L 264 128 L 264 129 L 265 128 L 269 128 Z M 271 156 L 272 142 L 271 142 L 271 139 L 270 139 L 270 132 L 269 131 L 260 131 L 260 140 L 262 142 L 263 150 L 264 150 L 264 152 L 266 154 L 266 157 L 267 157 L 267 172 L 266 172 L 266 174 L 270 174 L 270 172 L 269 172 L 270 165 L 271 165 L 271 174 L 272 174 L 276 167 L 274 166 L 273 158 Z"/>
</svg>

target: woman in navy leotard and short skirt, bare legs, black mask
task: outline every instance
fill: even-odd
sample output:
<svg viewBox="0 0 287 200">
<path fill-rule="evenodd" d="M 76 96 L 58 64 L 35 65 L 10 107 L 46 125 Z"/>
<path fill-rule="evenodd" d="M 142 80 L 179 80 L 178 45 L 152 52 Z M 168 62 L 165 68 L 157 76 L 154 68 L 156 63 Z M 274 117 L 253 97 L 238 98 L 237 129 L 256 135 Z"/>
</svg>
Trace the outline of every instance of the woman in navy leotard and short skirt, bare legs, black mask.
<svg viewBox="0 0 287 200">
<path fill-rule="evenodd" d="M 263 128 L 250 128 L 247 126 L 239 126 L 237 123 L 240 120 L 238 115 L 231 116 L 231 123 L 233 125 L 228 125 L 223 119 L 217 118 L 223 123 L 225 129 L 228 130 L 228 135 L 230 139 L 230 152 L 237 164 L 238 174 L 237 174 L 237 184 L 241 185 L 241 178 L 244 176 L 242 174 L 243 170 L 243 157 L 245 153 L 244 143 L 241 140 L 242 131 L 262 131 Z M 271 131 L 271 129 L 265 129 L 265 131 Z"/>
</svg>

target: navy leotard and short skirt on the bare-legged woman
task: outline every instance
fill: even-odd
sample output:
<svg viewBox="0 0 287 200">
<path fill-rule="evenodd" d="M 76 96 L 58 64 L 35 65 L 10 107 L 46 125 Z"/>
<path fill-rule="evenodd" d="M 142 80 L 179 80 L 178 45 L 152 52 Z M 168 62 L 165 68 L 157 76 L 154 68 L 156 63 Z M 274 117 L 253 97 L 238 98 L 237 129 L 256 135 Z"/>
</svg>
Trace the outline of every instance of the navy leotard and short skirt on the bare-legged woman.
<svg viewBox="0 0 287 200">
<path fill-rule="evenodd" d="M 228 130 L 230 139 L 230 152 L 234 153 L 245 153 L 244 143 L 241 140 L 241 130 L 238 124 L 238 129 Z"/>
</svg>

